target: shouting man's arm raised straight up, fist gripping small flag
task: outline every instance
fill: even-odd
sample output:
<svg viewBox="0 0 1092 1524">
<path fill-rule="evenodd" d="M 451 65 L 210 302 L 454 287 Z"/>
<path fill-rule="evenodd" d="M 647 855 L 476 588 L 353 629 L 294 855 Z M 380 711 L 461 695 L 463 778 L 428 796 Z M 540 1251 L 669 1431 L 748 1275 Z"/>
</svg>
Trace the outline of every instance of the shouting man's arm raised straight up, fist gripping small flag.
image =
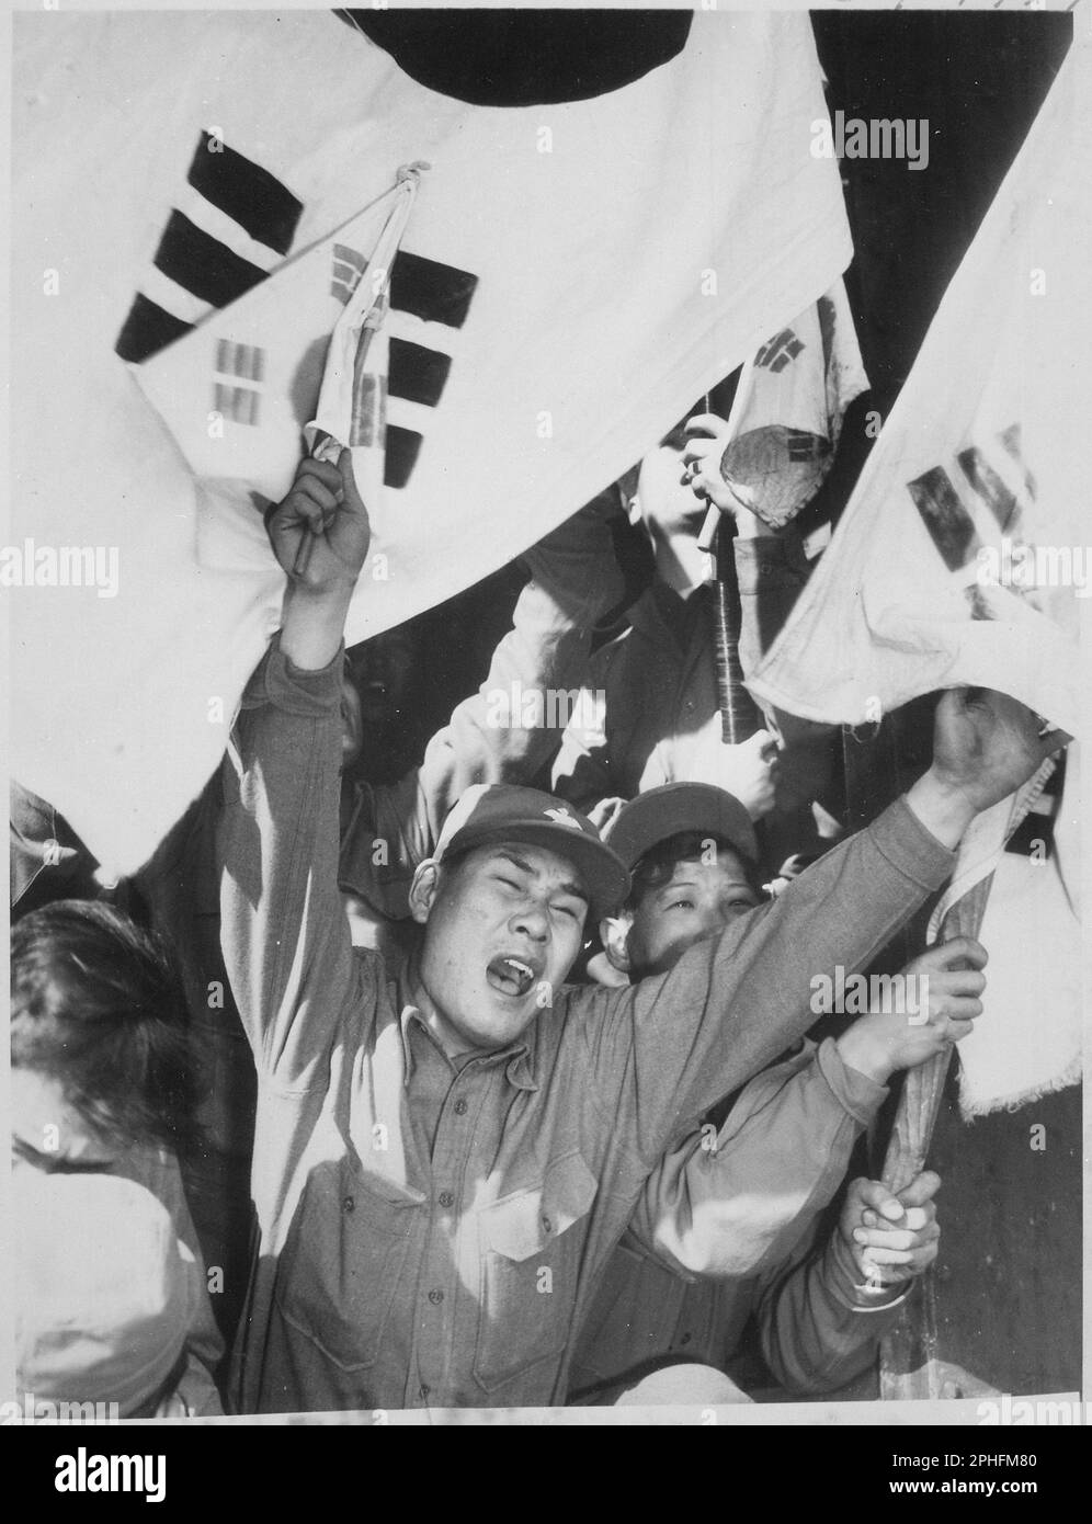
<svg viewBox="0 0 1092 1524">
<path fill-rule="evenodd" d="M 355 977 L 337 882 L 341 629 L 370 532 L 349 451 L 340 468 L 305 460 L 267 529 L 289 585 L 224 764 L 221 939 L 259 1068 L 306 1088 Z"/>
</svg>

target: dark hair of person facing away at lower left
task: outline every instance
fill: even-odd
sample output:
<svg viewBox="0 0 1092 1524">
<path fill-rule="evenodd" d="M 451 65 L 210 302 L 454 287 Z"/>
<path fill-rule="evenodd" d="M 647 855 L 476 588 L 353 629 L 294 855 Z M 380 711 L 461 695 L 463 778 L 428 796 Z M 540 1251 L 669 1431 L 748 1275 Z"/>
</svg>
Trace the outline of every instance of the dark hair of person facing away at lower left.
<svg viewBox="0 0 1092 1524">
<path fill-rule="evenodd" d="M 101 1137 L 196 1141 L 196 1061 L 166 943 L 113 905 L 61 899 L 12 928 L 11 1059 L 56 1079 Z"/>
</svg>

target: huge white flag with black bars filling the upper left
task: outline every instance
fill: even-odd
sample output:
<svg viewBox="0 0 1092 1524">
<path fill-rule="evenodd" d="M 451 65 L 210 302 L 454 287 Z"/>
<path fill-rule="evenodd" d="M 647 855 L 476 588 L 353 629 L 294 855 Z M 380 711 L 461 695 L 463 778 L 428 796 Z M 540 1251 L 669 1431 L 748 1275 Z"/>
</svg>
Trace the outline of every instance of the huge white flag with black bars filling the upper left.
<svg viewBox="0 0 1092 1524">
<path fill-rule="evenodd" d="M 12 771 L 114 870 L 215 768 L 279 623 L 260 509 L 401 165 L 433 168 L 350 640 L 573 514 L 851 255 L 806 14 L 699 12 L 641 78 L 512 108 L 327 12 L 18 14 L 14 40 Z M 113 590 L 35 570 L 73 546 L 117 552 Z"/>
</svg>

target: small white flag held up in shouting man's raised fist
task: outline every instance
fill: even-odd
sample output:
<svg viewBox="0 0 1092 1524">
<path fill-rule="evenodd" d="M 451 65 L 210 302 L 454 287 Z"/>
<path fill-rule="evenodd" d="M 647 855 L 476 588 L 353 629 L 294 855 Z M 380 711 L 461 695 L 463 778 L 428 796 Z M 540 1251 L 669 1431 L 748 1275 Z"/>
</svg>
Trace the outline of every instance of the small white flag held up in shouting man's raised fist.
<svg viewBox="0 0 1092 1524">
<path fill-rule="evenodd" d="M 373 526 L 382 520 L 390 285 L 416 183 L 417 174 L 410 175 L 407 166 L 405 178 L 332 239 L 289 259 L 276 279 L 254 285 L 190 335 L 134 366 L 210 504 L 198 523 L 203 564 L 268 570 L 270 546 L 256 506 L 283 497 L 303 447 L 337 463 L 341 445 L 349 445 Z M 405 331 L 405 315 L 393 326 Z M 428 326 L 417 323 L 417 329 Z M 321 335 L 318 343 L 315 335 Z M 212 413 L 193 405 L 206 401 L 209 376 L 216 378 Z M 305 398 L 314 398 L 314 418 L 302 425 Z M 384 562 L 385 553 L 376 552 L 375 565 L 385 570 Z"/>
</svg>

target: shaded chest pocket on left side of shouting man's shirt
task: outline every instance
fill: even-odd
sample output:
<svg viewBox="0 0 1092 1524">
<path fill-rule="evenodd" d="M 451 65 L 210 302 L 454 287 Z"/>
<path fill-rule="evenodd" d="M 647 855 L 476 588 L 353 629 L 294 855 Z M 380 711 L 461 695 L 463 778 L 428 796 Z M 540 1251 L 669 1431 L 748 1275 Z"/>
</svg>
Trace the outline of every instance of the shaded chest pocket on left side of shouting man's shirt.
<svg viewBox="0 0 1092 1524">
<path fill-rule="evenodd" d="M 280 1256 L 277 1306 L 341 1370 L 376 1362 L 423 1201 L 349 1158 L 308 1177 Z"/>
</svg>

